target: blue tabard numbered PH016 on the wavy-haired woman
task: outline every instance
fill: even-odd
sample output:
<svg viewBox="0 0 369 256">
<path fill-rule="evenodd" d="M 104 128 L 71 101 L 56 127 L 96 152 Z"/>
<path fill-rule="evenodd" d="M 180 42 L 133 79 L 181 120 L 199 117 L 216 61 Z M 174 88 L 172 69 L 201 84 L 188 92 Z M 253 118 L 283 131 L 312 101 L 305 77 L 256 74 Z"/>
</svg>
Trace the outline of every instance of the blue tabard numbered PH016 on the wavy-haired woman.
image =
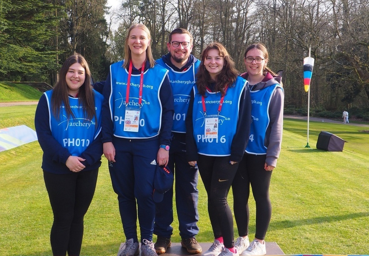
<svg viewBox="0 0 369 256">
<path fill-rule="evenodd" d="M 197 145 L 197 152 L 206 156 L 230 156 L 231 143 L 236 133 L 239 102 L 242 96 L 242 91 L 245 89 L 246 80 L 238 76 L 233 84 L 234 87 L 229 87 L 224 96 L 224 102 L 220 114 L 218 115 L 218 138 L 204 138 L 205 132 L 205 117 L 203 112 L 202 98 L 194 86 L 195 93 L 193 103 L 193 136 Z M 207 92 L 205 97 L 206 115 L 217 115 L 220 102 L 220 93 Z"/>
</svg>

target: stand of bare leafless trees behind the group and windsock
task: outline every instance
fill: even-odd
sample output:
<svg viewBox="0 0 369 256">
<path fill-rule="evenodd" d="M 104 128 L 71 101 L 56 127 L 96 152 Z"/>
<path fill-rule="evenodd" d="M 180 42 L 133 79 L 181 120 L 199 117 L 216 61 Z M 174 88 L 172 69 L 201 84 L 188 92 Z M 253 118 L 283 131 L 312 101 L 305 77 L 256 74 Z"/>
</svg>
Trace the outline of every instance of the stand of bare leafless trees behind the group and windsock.
<svg viewBox="0 0 369 256">
<path fill-rule="evenodd" d="M 315 59 L 311 81 L 311 106 L 338 108 L 365 94 L 369 105 L 369 2 L 365 0 L 124 0 L 125 26 L 146 24 L 152 32 L 152 48 L 159 57 L 166 52 L 168 33 L 175 27 L 194 36 L 195 56 L 211 41 L 225 45 L 244 71 L 244 50 L 263 42 L 268 65 L 284 70 L 286 106 L 306 106 L 303 90 L 303 58 Z M 128 15 L 127 15 L 128 13 Z M 114 51 L 123 47 L 114 34 Z M 119 53 L 121 54 L 121 53 Z"/>
</svg>

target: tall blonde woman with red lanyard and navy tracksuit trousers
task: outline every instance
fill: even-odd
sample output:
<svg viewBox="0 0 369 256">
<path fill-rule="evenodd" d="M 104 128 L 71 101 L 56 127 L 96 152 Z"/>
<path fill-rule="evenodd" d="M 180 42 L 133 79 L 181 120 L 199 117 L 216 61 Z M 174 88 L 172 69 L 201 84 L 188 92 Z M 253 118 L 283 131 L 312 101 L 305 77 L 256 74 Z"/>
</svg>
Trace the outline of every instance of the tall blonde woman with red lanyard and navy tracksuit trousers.
<svg viewBox="0 0 369 256">
<path fill-rule="evenodd" d="M 137 217 L 141 255 L 156 255 L 154 173 L 168 164 L 174 100 L 168 70 L 155 65 L 150 43 L 148 28 L 132 25 L 124 60 L 110 66 L 103 90 L 104 155 L 127 240 L 121 256 L 139 254 Z"/>
</svg>

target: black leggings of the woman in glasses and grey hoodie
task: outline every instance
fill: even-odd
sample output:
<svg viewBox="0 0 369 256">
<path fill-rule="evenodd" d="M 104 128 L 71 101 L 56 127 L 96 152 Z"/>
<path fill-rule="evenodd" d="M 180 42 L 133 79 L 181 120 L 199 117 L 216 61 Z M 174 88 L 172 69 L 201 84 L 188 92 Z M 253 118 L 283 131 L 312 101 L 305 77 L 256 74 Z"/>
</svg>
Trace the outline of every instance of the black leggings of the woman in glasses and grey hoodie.
<svg viewBox="0 0 369 256">
<path fill-rule="evenodd" d="M 256 203 L 255 238 L 264 240 L 272 217 L 272 204 L 269 199 L 269 185 L 272 171 L 264 169 L 266 155 L 245 154 L 239 163 L 232 183 L 234 217 L 238 235 L 248 235 L 250 184 Z"/>
</svg>

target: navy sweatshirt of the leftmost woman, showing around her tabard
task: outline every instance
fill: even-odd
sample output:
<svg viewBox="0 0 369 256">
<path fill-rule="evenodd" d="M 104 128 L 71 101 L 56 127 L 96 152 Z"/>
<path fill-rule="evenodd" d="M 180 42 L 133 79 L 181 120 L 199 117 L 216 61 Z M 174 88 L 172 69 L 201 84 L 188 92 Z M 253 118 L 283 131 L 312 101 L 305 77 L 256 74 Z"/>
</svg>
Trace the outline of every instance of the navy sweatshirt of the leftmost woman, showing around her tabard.
<svg viewBox="0 0 369 256">
<path fill-rule="evenodd" d="M 65 165 L 71 154 L 68 149 L 56 141 L 51 134 L 49 123 L 49 107 L 45 94 L 42 94 L 35 113 L 35 128 L 38 143 L 44 154 L 42 155 L 42 169 L 46 172 L 67 174 L 72 173 Z M 82 162 L 86 166 L 81 172 L 98 169 L 101 165 L 101 155 L 103 155 L 103 144 L 101 143 L 101 132 L 94 139 L 87 149 L 79 156 L 86 159 Z"/>
</svg>

